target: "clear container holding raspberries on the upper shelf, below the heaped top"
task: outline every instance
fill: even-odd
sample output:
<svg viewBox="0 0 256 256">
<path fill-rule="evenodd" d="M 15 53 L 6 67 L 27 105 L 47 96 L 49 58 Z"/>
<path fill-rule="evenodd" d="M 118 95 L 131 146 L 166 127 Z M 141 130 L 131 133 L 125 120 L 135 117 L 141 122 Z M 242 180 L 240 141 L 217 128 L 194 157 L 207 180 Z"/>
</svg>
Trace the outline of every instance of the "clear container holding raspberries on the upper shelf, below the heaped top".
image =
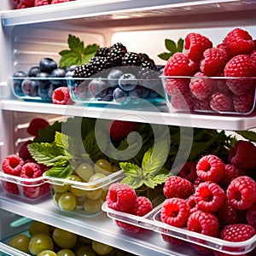
<svg viewBox="0 0 256 256">
<path fill-rule="evenodd" d="M 255 108 L 255 77 L 161 77 L 169 107 L 189 113 L 240 114 Z"/>
</svg>

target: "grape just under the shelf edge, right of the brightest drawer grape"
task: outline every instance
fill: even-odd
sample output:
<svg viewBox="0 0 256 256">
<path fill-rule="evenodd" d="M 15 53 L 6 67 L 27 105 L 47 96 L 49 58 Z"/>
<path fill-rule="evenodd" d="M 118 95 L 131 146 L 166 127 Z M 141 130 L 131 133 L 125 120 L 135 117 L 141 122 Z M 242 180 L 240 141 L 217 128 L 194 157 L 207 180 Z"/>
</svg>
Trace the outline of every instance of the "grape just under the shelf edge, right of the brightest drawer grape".
<svg viewBox="0 0 256 256">
<path fill-rule="evenodd" d="M 71 249 L 72 247 L 75 246 L 78 240 L 78 235 L 67 230 L 55 228 L 55 230 L 52 233 L 52 238 L 57 246 L 63 249 Z"/>
</svg>

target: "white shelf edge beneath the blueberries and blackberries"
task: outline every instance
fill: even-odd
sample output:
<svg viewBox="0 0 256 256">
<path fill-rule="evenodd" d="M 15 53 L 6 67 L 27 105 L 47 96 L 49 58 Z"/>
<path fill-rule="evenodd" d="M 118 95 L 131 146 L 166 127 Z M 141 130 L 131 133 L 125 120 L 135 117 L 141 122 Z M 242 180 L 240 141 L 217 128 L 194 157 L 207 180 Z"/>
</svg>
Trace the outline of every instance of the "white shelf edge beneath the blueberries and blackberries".
<svg viewBox="0 0 256 256">
<path fill-rule="evenodd" d="M 250 130 L 256 127 L 256 113 L 250 115 L 221 115 L 195 113 L 166 113 L 158 108 L 144 111 L 122 108 L 97 108 L 81 105 L 54 105 L 42 102 L 3 100 L 0 109 L 9 111 L 52 113 L 67 116 L 84 116 L 96 119 L 120 119 L 158 125 L 177 125 L 226 131 Z"/>
</svg>

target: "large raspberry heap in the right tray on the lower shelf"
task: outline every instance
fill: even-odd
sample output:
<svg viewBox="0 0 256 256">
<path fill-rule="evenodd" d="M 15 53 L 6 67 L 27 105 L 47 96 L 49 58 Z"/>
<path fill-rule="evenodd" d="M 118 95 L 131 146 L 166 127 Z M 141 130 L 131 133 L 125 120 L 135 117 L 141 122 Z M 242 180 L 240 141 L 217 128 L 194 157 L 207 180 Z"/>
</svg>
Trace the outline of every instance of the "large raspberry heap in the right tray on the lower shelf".
<svg viewBox="0 0 256 256">
<path fill-rule="evenodd" d="M 224 241 L 247 241 L 255 236 L 255 155 L 253 143 L 239 140 L 230 150 L 228 163 L 214 154 L 202 156 L 197 163 L 186 162 L 177 176 L 166 179 L 163 189 L 166 200 L 161 207 L 160 220 Z M 186 242 L 167 233 L 163 233 L 162 238 L 175 245 Z M 212 249 L 203 246 L 203 240 L 195 237 L 190 240 L 202 244 L 189 243 L 196 253 L 212 254 Z M 215 256 L 231 255 L 213 253 Z M 255 249 L 251 253 L 255 253 Z"/>
</svg>

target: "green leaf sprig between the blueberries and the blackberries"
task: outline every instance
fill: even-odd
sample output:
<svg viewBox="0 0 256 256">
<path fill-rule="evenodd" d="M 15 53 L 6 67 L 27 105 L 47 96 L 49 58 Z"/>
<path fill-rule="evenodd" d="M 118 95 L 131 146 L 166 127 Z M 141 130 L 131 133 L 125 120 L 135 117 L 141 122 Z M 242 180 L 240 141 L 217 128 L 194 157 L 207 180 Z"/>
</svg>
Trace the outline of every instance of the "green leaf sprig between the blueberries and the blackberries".
<svg viewBox="0 0 256 256">
<path fill-rule="evenodd" d="M 90 59 L 96 54 L 97 49 L 100 48 L 98 44 L 88 44 L 84 47 L 84 41 L 71 34 L 68 35 L 67 44 L 69 49 L 63 49 L 59 52 L 59 55 L 61 55 L 59 66 L 61 68 L 89 63 Z"/>
</svg>

